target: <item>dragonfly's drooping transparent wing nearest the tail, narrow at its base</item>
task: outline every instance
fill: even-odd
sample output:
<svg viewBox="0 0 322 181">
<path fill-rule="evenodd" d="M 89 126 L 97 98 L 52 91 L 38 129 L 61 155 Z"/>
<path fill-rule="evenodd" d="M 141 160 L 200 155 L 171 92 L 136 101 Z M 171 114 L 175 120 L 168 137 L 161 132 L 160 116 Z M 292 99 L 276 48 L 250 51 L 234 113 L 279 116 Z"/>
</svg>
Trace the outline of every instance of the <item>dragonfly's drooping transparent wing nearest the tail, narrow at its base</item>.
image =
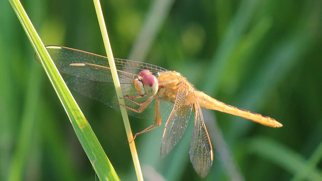
<svg viewBox="0 0 322 181">
<path fill-rule="evenodd" d="M 190 161 L 193 168 L 202 178 L 209 173 L 213 161 L 213 151 L 200 105 L 194 103 L 195 125 L 190 143 Z"/>
</svg>

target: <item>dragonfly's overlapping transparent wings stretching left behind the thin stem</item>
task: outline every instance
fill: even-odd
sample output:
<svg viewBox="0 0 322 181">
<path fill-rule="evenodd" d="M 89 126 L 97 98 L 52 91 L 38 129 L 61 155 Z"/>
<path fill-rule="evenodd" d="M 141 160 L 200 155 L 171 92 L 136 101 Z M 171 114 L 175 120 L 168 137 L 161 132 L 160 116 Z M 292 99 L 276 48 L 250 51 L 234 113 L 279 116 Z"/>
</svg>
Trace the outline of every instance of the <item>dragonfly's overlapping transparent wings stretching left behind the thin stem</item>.
<svg viewBox="0 0 322 181">
<path fill-rule="evenodd" d="M 78 93 L 119 110 L 107 57 L 61 46 L 47 46 L 46 48 L 68 87 L 74 89 Z M 37 56 L 35 58 L 38 60 Z M 124 95 L 128 96 L 137 95 L 132 82 L 133 78 L 135 78 L 137 73 L 141 70 L 148 69 L 154 75 L 157 75 L 158 72 L 168 71 L 167 69 L 156 65 L 132 60 L 115 59 L 115 64 L 122 92 Z M 145 99 L 146 98 L 144 97 L 136 101 L 142 102 Z M 134 108 L 137 106 L 126 99 L 125 104 Z M 154 101 L 151 105 L 154 105 Z M 172 106 L 173 104 L 171 103 L 160 102 L 162 112 L 170 112 L 169 110 Z M 132 111 L 129 111 L 128 113 L 134 117 L 154 120 L 155 107 L 149 106 L 142 114 Z M 167 116 L 167 114 L 165 114 L 165 116 Z"/>
</svg>

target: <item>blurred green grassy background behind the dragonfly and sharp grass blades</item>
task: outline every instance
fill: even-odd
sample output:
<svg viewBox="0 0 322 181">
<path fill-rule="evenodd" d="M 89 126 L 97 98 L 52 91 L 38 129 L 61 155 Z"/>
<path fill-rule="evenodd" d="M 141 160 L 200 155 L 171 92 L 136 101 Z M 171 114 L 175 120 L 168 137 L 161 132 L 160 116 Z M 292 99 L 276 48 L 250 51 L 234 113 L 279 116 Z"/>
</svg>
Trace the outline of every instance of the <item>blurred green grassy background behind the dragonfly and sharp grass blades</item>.
<svg viewBox="0 0 322 181">
<path fill-rule="evenodd" d="M 93 2 L 22 4 L 45 45 L 105 54 Z M 17 16 L 9 2 L 0 5 L 0 180 L 97 179 Z M 204 180 L 322 179 L 321 1 L 119 0 L 102 8 L 115 57 L 177 70 L 210 96 L 284 125 L 203 110 L 214 147 Z M 119 177 L 135 180 L 120 113 L 72 93 Z M 133 132 L 153 122 L 130 121 Z M 192 124 L 160 158 L 164 124 L 136 139 L 145 179 L 201 179 L 189 161 Z"/>
</svg>

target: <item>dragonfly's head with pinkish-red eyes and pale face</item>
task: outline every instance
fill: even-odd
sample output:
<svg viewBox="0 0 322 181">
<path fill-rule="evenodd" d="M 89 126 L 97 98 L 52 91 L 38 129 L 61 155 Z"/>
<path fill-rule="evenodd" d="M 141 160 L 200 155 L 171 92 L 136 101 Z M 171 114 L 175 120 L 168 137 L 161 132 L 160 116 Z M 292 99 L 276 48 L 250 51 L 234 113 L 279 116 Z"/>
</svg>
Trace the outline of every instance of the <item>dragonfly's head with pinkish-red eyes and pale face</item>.
<svg viewBox="0 0 322 181">
<path fill-rule="evenodd" d="M 158 80 L 149 70 L 142 70 L 137 74 L 137 78 L 133 80 L 135 90 L 138 95 L 153 96 L 158 91 Z"/>
</svg>

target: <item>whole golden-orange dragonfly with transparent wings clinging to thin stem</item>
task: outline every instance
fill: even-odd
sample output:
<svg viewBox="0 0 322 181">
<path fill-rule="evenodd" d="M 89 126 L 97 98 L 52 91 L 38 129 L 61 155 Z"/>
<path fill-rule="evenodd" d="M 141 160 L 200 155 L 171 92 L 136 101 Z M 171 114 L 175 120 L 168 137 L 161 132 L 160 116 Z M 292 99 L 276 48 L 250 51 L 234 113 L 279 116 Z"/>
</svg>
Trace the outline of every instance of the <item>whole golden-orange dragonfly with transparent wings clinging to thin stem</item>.
<svg viewBox="0 0 322 181">
<path fill-rule="evenodd" d="M 162 157 L 179 142 L 194 112 L 189 154 L 195 171 L 202 178 L 211 169 L 213 148 L 201 108 L 243 117 L 270 127 L 283 126 L 273 118 L 230 106 L 198 91 L 177 71 L 115 58 L 125 101 L 125 105 L 119 105 L 107 57 L 62 46 L 47 46 L 46 49 L 68 87 L 114 109 L 125 106 L 131 110 L 128 112 L 131 116 L 154 120 L 134 138 L 167 120 L 161 141 Z M 39 61 L 38 56 L 35 58 Z"/>
</svg>

